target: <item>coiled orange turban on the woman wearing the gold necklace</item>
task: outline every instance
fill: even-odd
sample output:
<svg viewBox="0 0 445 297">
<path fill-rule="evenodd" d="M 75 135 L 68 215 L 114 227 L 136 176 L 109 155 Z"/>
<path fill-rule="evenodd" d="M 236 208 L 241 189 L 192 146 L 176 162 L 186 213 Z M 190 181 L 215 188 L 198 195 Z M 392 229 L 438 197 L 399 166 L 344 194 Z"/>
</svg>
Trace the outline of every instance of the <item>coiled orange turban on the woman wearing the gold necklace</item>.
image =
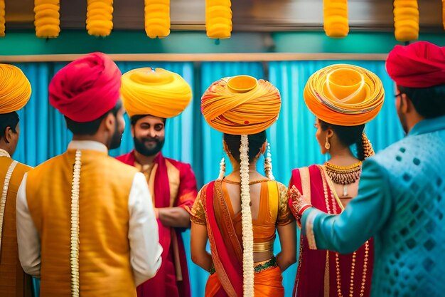
<svg viewBox="0 0 445 297">
<path fill-rule="evenodd" d="M 383 105 L 382 81 L 371 71 L 336 64 L 313 73 L 304 88 L 304 102 L 326 123 L 355 126 L 375 118 Z"/>
</svg>

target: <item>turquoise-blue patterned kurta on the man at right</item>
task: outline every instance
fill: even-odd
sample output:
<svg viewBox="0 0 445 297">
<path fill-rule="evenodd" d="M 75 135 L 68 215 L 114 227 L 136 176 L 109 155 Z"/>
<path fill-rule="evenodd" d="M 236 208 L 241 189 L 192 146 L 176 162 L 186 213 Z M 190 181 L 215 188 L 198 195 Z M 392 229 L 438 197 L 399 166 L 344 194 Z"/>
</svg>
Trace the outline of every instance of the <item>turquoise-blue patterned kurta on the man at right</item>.
<svg viewBox="0 0 445 297">
<path fill-rule="evenodd" d="M 358 196 L 340 215 L 308 209 L 317 249 L 350 253 L 374 236 L 371 296 L 445 296 L 445 116 L 363 162 Z M 312 235 L 313 232 L 313 235 Z"/>
</svg>

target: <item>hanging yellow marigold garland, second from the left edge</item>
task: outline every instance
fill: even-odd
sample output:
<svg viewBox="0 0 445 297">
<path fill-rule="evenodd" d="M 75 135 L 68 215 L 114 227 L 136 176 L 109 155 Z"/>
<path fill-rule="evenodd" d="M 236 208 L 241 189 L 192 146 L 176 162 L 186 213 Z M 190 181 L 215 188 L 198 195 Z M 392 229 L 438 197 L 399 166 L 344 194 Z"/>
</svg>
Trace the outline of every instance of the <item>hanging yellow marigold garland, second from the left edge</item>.
<svg viewBox="0 0 445 297">
<path fill-rule="evenodd" d="M 60 1 L 35 0 L 34 26 L 36 36 L 41 38 L 55 38 L 60 33 Z"/>
</svg>

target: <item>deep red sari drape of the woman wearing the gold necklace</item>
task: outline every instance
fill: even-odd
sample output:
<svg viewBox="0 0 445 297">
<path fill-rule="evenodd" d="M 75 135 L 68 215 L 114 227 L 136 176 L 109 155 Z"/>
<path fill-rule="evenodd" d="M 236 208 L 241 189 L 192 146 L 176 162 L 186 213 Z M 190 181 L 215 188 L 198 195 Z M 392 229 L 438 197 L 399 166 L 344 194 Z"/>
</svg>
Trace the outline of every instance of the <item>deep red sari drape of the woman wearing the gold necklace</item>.
<svg viewBox="0 0 445 297">
<path fill-rule="evenodd" d="M 326 179 L 326 172 L 320 165 L 292 171 L 289 189 L 294 185 L 304 196 L 310 194 L 313 207 L 329 214 L 340 214 L 341 207 L 333 197 L 331 187 Z M 310 191 L 310 193 L 308 193 Z M 308 199 L 308 198 L 306 198 Z M 328 209 L 329 208 L 329 209 Z M 306 236 L 300 236 L 299 263 L 296 273 L 293 296 L 328 297 L 338 295 L 338 271 L 340 276 L 341 295 L 350 296 L 351 263 L 353 254 L 337 254 L 333 251 L 309 249 Z M 363 296 L 370 296 L 373 258 L 372 239 L 369 240 L 367 272 Z M 355 273 L 353 276 L 353 297 L 360 296 L 363 283 L 363 266 L 365 245 L 360 246 L 355 256 Z M 338 265 L 337 265 L 338 264 Z"/>
</svg>

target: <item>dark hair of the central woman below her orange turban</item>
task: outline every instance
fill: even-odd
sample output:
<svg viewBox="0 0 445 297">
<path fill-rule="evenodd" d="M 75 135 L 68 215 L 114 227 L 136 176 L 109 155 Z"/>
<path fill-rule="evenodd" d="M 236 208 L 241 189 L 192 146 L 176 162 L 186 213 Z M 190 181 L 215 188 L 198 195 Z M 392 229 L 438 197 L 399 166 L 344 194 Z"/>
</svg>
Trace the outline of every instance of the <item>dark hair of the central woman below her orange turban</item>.
<svg viewBox="0 0 445 297">
<path fill-rule="evenodd" d="M 249 139 L 249 162 L 254 160 L 255 156 L 258 155 L 259 150 L 263 143 L 266 141 L 266 131 L 259 132 L 257 134 L 247 135 Z M 232 135 L 224 133 L 223 139 L 227 144 L 230 154 L 237 160 L 240 160 L 240 146 L 241 146 L 241 135 Z"/>
</svg>

